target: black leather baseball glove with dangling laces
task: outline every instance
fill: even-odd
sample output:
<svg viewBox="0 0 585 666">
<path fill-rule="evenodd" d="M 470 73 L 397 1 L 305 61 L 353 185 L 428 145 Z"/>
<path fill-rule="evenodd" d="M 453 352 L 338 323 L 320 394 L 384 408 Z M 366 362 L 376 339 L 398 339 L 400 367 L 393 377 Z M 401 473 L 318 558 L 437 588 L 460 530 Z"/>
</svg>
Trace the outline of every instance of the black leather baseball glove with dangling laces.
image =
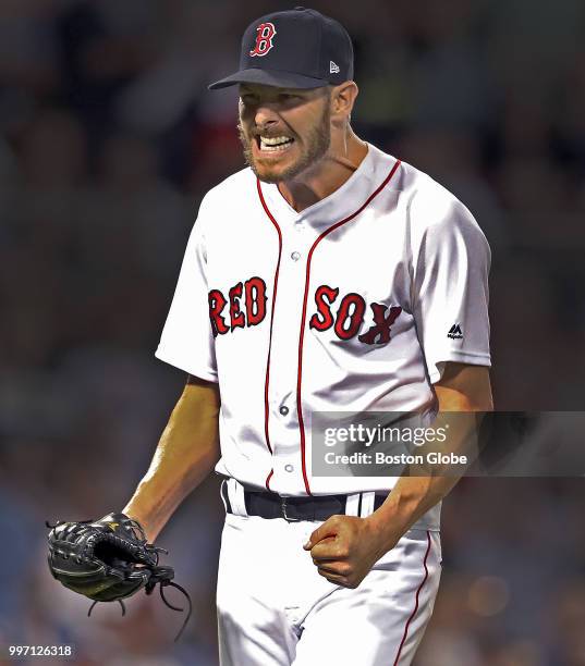
<svg viewBox="0 0 585 666">
<path fill-rule="evenodd" d="M 92 614 L 98 602 L 118 601 L 125 615 L 123 599 L 145 589 L 150 594 L 159 585 L 160 596 L 173 610 L 183 610 L 169 603 L 163 588 L 171 585 L 187 599 L 188 613 L 179 639 L 191 617 L 191 599 L 186 591 L 172 582 L 172 567 L 159 566 L 159 553 L 164 548 L 147 543 L 139 522 L 124 514 L 108 514 L 100 520 L 81 520 L 56 525 L 46 523 L 50 529 L 49 569 L 65 588 L 84 594 L 94 603 L 87 615 Z"/>
</svg>

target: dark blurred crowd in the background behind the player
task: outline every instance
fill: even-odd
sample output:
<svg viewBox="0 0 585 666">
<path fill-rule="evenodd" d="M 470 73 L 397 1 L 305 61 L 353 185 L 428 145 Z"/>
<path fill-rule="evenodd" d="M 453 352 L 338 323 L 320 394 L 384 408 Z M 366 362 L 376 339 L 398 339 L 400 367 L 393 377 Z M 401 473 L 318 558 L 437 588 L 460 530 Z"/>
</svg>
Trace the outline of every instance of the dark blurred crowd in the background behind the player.
<svg viewBox="0 0 585 666">
<path fill-rule="evenodd" d="M 159 540 L 194 599 L 176 645 L 182 616 L 155 596 L 85 617 L 48 574 L 44 521 L 119 510 L 148 465 L 185 380 L 153 354 L 186 238 L 244 165 L 237 92 L 206 85 L 249 21 L 290 7 L 0 2 L 0 661 L 72 643 L 78 664 L 217 664 L 217 479 Z M 353 37 L 357 134 L 454 192 L 490 242 L 497 408 L 583 409 L 583 1 L 312 7 Z M 580 479 L 458 485 L 417 666 L 585 664 L 583 497 Z"/>
</svg>

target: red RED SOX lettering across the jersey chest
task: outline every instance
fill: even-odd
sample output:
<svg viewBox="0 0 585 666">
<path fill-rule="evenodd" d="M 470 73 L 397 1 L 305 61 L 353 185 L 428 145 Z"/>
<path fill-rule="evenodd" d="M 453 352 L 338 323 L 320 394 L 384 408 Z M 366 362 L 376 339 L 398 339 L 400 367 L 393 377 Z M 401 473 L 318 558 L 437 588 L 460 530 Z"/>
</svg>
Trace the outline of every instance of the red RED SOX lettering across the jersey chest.
<svg viewBox="0 0 585 666">
<path fill-rule="evenodd" d="M 366 313 L 366 301 L 363 296 L 350 292 L 345 294 L 339 307 L 332 306 L 339 296 L 339 288 L 326 284 L 317 287 L 315 304 L 317 311 L 309 319 L 309 328 L 316 331 L 327 331 L 333 326 L 340 340 L 355 337 Z M 242 299 L 243 308 L 242 309 Z M 266 283 L 261 278 L 254 276 L 245 283 L 239 282 L 230 288 L 228 297 L 220 289 L 209 292 L 209 318 L 214 335 L 223 335 L 235 329 L 258 325 L 266 317 Z M 380 303 L 370 304 L 374 325 L 357 336 L 366 345 L 382 345 L 390 342 L 390 326 L 402 312 L 400 307 L 388 307 Z M 227 310 L 227 316 L 223 314 Z M 229 321 L 227 321 L 227 319 Z"/>
</svg>

